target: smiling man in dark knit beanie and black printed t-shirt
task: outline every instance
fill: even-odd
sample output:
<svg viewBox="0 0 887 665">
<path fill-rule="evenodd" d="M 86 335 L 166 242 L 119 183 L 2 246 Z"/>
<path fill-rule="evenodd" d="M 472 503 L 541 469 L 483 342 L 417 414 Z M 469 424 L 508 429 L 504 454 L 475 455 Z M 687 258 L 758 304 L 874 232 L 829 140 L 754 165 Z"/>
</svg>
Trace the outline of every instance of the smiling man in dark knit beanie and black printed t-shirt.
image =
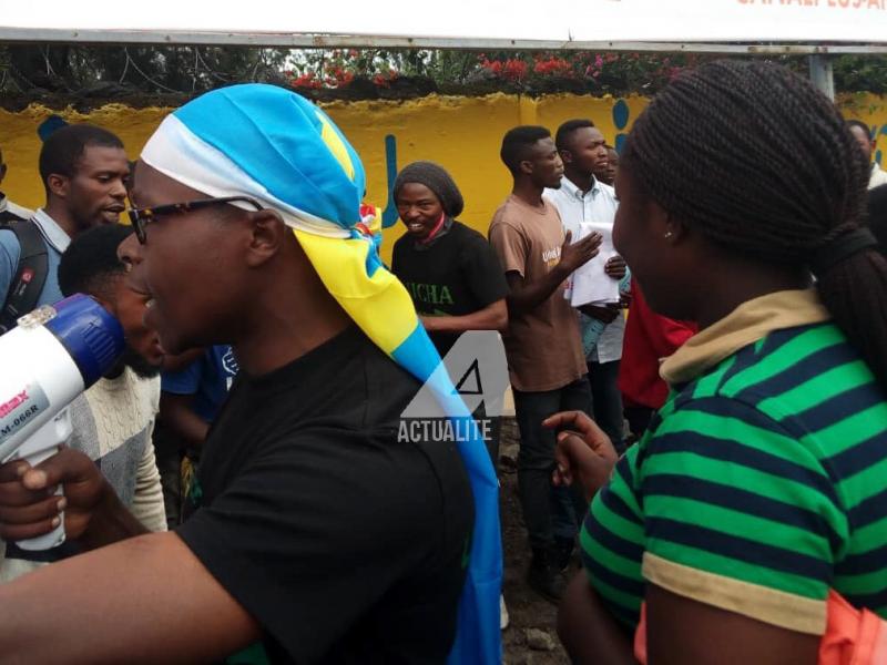
<svg viewBox="0 0 887 665">
<path fill-rule="evenodd" d="M 507 330 L 502 267 L 487 238 L 456 221 L 463 202 L 449 173 L 414 162 L 397 175 L 394 197 L 407 234 L 395 243 L 391 272 L 440 356 L 466 330 Z"/>
</svg>

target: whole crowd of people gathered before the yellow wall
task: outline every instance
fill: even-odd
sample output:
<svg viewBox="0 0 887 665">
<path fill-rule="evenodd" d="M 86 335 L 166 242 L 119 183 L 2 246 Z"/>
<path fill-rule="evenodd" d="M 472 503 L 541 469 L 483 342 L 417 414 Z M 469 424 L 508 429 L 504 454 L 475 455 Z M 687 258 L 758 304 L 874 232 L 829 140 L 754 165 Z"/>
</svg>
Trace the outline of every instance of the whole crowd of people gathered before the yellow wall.
<svg viewBox="0 0 887 665">
<path fill-rule="evenodd" d="M 508 131 L 486 237 L 443 165 L 406 165 L 389 269 L 358 155 L 295 93 L 207 93 L 135 162 L 55 129 L 45 204 L 0 194 L 0 325 L 84 293 L 126 350 L 67 448 L 0 464 L 0 661 L 498 661 L 498 423 L 397 437 L 497 330 L 526 581 L 573 662 L 885 662 L 874 150 L 808 81 L 720 61 L 620 154 L 589 119 Z"/>
</svg>

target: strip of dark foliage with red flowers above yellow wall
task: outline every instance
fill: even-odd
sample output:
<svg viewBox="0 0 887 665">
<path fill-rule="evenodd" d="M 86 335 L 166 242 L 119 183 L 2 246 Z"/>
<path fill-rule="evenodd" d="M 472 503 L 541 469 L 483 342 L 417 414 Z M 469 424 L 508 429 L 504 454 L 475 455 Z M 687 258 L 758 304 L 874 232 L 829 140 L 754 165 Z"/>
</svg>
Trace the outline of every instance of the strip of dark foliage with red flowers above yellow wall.
<svg viewBox="0 0 887 665">
<path fill-rule="evenodd" d="M 653 94 L 685 69 L 718 55 L 591 51 L 483 52 L 428 49 L 316 49 L 246 47 L 0 47 L 0 92 L 7 94 L 181 93 L 236 82 L 265 81 L 304 91 L 351 90 L 373 96 L 424 81 L 419 94 L 541 93 Z M 751 58 L 747 57 L 747 58 Z M 772 57 L 807 72 L 804 57 Z M 887 58 L 834 59 L 839 92 L 887 93 Z M 359 82 L 359 85 L 358 85 Z"/>
</svg>

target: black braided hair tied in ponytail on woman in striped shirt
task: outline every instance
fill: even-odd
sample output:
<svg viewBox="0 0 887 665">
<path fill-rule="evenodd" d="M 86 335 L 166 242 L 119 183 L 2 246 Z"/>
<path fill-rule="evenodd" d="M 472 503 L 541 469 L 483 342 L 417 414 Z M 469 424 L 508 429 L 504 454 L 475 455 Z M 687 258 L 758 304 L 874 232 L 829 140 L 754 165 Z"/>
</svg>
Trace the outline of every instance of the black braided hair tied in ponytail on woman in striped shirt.
<svg viewBox="0 0 887 665">
<path fill-rule="evenodd" d="M 725 250 L 813 269 L 865 224 L 868 170 L 837 108 L 776 64 L 717 61 L 638 117 L 622 166 Z M 867 248 L 817 272 L 824 305 L 887 389 L 887 263 Z"/>
</svg>

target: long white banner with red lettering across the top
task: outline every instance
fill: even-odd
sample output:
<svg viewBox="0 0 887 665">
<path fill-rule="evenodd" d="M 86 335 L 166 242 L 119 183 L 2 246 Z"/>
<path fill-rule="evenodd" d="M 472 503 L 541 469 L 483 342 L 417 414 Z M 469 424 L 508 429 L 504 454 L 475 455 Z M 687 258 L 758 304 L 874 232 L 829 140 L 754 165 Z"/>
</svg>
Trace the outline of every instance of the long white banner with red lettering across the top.
<svg viewBox="0 0 887 665">
<path fill-rule="evenodd" d="M 887 44 L 887 0 L 0 0 L 0 39 L 140 41 L 133 33 L 356 34 L 467 41 L 863 42 Z M 175 41 L 181 41 L 177 39 Z M 202 40 L 201 40 L 202 41 Z"/>
</svg>

